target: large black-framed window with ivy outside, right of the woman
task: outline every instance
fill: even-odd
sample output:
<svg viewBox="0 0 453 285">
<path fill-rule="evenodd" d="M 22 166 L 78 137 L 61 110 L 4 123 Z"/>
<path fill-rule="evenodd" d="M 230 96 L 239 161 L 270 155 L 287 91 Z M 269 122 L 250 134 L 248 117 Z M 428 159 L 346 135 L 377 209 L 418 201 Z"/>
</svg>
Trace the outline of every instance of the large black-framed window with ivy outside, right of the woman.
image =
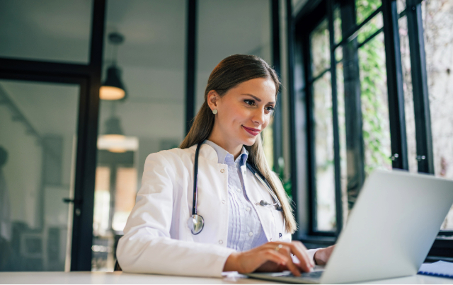
<svg viewBox="0 0 453 285">
<path fill-rule="evenodd" d="M 310 202 L 304 234 L 338 235 L 374 169 L 453 179 L 453 10 L 446 3 L 325 0 L 299 12 L 294 52 L 302 70 L 294 80 L 304 81 Z M 442 230 L 452 235 L 453 209 Z"/>
</svg>

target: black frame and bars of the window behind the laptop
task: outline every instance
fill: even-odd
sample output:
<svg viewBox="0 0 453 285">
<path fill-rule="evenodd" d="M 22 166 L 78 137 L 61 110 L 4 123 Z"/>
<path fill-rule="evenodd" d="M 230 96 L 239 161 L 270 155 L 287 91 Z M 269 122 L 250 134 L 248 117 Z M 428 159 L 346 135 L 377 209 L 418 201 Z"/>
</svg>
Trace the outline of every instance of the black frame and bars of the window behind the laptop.
<svg viewBox="0 0 453 285">
<path fill-rule="evenodd" d="M 288 61 L 289 61 L 289 117 L 291 123 L 292 151 L 292 185 L 293 197 L 296 197 L 296 216 L 299 231 L 294 239 L 302 240 L 307 248 L 326 246 L 335 243 L 343 228 L 343 206 L 340 183 L 340 151 L 338 135 L 338 110 L 336 86 L 336 58 L 337 47 L 345 48 L 345 44 L 352 42 L 353 49 L 365 45 L 380 33 L 384 33 L 384 47 L 386 57 L 387 91 L 389 98 L 389 124 L 391 137 L 392 168 L 408 170 L 408 149 L 406 142 L 406 121 L 404 113 L 403 71 L 401 66 L 400 35 L 398 33 L 398 19 L 406 16 L 408 21 L 408 37 L 411 54 L 411 75 L 413 78 L 413 100 L 415 112 L 415 141 L 417 145 L 418 172 L 434 174 L 432 136 L 430 124 L 430 106 L 428 100 L 428 81 L 425 61 L 425 47 L 423 38 L 423 23 L 421 3 L 423 0 L 406 0 L 406 8 L 398 13 L 396 0 L 382 0 L 382 5 L 367 16 L 362 23 L 356 23 L 356 8 L 354 0 L 309 0 L 305 6 L 292 15 L 292 1 L 287 0 L 288 25 Z M 342 40 L 335 42 L 334 11 L 340 8 L 342 14 Z M 383 27 L 370 35 L 363 42 L 357 42 L 357 31 L 368 23 L 374 16 L 382 13 Z M 346 16 L 349 16 L 347 18 Z M 316 185 L 314 181 L 314 128 L 312 116 L 312 83 L 311 57 L 309 35 L 323 19 L 328 20 L 328 32 L 331 45 L 331 64 L 326 71 L 331 72 L 332 100 L 333 100 L 333 139 L 335 153 L 335 181 L 336 181 L 336 216 L 337 229 L 331 232 L 316 231 Z M 346 22 L 346 23 L 345 23 Z M 347 23 L 349 22 L 349 23 Z M 349 28 L 345 28 L 349 27 Z M 352 60 L 352 65 L 357 62 Z M 353 71 L 351 71 L 353 72 Z M 358 78 L 358 74 L 357 74 Z M 355 189 L 362 187 L 365 181 L 364 146 L 362 133 L 362 115 L 360 110 L 360 81 L 355 86 L 358 90 L 358 103 L 350 110 L 355 110 L 355 119 L 360 122 L 350 127 L 355 131 L 355 137 L 346 142 L 348 149 L 354 148 L 353 159 L 355 165 Z M 352 86 L 354 87 L 354 86 Z M 357 97 L 357 96 L 356 96 Z M 357 99 L 357 98 L 356 98 Z M 345 105 L 347 102 L 345 102 Z M 357 103 L 355 103 L 357 104 Z M 298 115 L 302 113 L 304 115 Z M 348 128 L 348 127 L 347 127 Z M 348 134 L 346 134 L 348 137 Z M 302 149 L 300 149 L 302 147 Z M 423 158 L 422 158 L 423 157 Z M 305 172 L 305 173 L 304 173 Z M 349 180 L 349 178 L 348 178 Z M 348 181 L 349 185 L 350 181 Z M 348 187 L 349 190 L 349 187 Z M 351 205 L 352 206 L 352 205 Z M 433 244 L 427 260 L 453 261 L 453 231 L 440 231 Z"/>
</svg>

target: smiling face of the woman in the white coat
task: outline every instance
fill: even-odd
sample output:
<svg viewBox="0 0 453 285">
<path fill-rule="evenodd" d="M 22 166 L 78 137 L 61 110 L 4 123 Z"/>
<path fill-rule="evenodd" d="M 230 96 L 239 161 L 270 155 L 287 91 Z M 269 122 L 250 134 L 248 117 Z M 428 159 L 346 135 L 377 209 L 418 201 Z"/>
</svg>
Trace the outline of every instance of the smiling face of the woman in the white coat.
<svg viewBox="0 0 453 285">
<path fill-rule="evenodd" d="M 208 94 L 211 110 L 217 109 L 213 132 L 230 147 L 255 143 L 268 126 L 275 107 L 275 83 L 271 78 L 254 78 L 231 88 L 219 97 Z"/>
</svg>

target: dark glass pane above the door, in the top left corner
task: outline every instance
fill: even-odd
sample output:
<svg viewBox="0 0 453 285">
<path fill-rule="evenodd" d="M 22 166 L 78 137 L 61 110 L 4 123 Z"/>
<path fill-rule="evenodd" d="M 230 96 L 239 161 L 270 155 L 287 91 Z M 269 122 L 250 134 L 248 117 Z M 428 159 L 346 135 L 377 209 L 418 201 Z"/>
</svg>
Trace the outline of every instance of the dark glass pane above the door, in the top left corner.
<svg viewBox="0 0 453 285">
<path fill-rule="evenodd" d="M 0 1 L 0 57 L 88 64 L 92 0 Z"/>
</svg>

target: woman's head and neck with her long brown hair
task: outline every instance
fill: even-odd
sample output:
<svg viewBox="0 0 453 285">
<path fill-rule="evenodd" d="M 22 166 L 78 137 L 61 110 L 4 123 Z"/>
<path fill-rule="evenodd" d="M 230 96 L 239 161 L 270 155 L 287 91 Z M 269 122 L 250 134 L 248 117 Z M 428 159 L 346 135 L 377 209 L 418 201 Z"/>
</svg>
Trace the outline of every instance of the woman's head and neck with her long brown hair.
<svg viewBox="0 0 453 285">
<path fill-rule="evenodd" d="M 205 102 L 180 148 L 209 139 L 236 159 L 244 146 L 249 152 L 248 160 L 283 201 L 286 230 L 292 233 L 296 228 L 292 209 L 280 179 L 268 166 L 258 136 L 269 124 L 279 88 L 277 74 L 263 59 L 245 54 L 226 57 L 212 71 L 205 89 Z M 217 110 L 216 115 L 214 110 Z"/>
</svg>

